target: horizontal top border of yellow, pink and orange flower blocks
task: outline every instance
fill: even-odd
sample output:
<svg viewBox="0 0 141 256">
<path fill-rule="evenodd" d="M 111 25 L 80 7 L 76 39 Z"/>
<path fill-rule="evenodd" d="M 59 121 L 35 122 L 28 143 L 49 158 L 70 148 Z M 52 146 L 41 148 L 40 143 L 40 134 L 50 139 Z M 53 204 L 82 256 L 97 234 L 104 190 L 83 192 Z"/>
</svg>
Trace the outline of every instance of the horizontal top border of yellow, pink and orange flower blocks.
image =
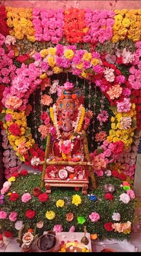
<svg viewBox="0 0 141 256">
<path fill-rule="evenodd" d="M 0 32 L 7 31 L 8 34 L 9 28 L 10 35 L 19 40 L 24 36 L 32 42 L 43 40 L 53 44 L 64 39 L 68 43 L 104 43 L 107 40 L 116 43 L 125 38 L 140 40 L 140 10 L 41 10 L 1 7 L 0 11 L 4 17 Z"/>
</svg>

